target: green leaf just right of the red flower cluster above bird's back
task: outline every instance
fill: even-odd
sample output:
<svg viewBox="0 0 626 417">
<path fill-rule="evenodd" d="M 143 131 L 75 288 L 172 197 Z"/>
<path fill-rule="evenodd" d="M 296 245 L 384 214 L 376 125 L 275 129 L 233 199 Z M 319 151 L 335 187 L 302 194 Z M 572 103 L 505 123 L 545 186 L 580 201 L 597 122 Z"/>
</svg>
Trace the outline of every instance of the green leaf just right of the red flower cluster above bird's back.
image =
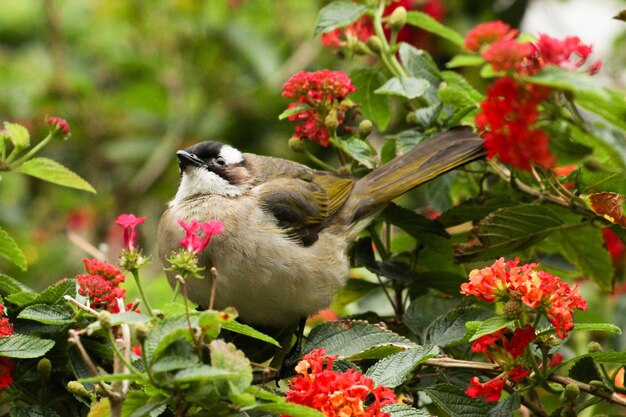
<svg viewBox="0 0 626 417">
<path fill-rule="evenodd" d="M 391 101 L 387 96 L 374 93 L 387 78 L 375 69 L 355 69 L 350 72 L 350 79 L 356 87 L 350 98 L 359 105 L 359 111 L 381 132 L 387 129 L 391 120 Z"/>
</svg>

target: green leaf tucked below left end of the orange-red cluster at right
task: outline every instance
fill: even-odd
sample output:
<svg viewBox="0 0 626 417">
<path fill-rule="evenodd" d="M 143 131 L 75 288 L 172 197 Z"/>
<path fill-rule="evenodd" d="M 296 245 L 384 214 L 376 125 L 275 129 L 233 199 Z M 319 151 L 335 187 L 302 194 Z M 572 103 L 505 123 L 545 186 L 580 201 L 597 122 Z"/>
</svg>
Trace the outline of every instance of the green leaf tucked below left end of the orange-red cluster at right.
<svg viewBox="0 0 626 417">
<path fill-rule="evenodd" d="M 465 324 L 484 321 L 494 313 L 481 307 L 461 307 L 436 319 L 428 328 L 428 341 L 439 346 L 454 346 L 468 341 Z"/>
</svg>

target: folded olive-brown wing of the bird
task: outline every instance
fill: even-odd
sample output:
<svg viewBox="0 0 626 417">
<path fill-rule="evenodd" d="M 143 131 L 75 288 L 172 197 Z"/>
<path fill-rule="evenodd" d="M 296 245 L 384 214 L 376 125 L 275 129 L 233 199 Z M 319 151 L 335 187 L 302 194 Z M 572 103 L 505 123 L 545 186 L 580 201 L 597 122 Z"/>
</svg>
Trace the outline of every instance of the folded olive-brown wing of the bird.
<svg viewBox="0 0 626 417">
<path fill-rule="evenodd" d="M 317 234 L 345 203 L 353 181 L 330 173 L 311 171 L 305 178 L 278 177 L 254 187 L 264 209 L 272 214 L 285 232 L 304 246 L 317 240 Z"/>
</svg>

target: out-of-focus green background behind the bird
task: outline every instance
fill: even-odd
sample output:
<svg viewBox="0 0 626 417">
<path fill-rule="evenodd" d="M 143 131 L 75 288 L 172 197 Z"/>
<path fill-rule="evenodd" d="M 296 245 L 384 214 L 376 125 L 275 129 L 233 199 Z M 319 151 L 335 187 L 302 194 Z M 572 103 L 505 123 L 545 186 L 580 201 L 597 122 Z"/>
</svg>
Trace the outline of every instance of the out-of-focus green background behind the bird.
<svg viewBox="0 0 626 417">
<path fill-rule="evenodd" d="M 603 1 L 593 3 L 611 5 L 613 14 L 624 4 Z M 120 213 L 148 216 L 140 243 L 154 254 L 156 224 L 178 182 L 174 153 L 195 142 L 222 140 L 295 158 L 287 147 L 293 126 L 278 121 L 287 105 L 282 84 L 305 69 L 348 71 L 369 64 L 344 59 L 313 37 L 325 3 L 0 0 L 0 121 L 25 125 L 36 141 L 45 135 L 47 116 L 67 119 L 71 139 L 53 143 L 42 156 L 68 166 L 98 191 L 3 173 L 0 226 L 26 253 L 29 270 L 8 263 L 0 270 L 42 288 L 82 273 L 80 259 L 93 256 L 89 245 L 115 261 L 122 234 L 113 221 Z M 438 3 L 444 23 L 461 33 L 494 18 L 519 26 L 533 5 Z M 610 17 L 596 23 L 622 23 Z M 612 58 L 605 60 L 605 76 L 619 85 L 623 74 L 615 69 L 626 62 L 623 30 L 621 38 L 607 42 Z M 441 64 L 455 52 L 437 39 L 426 44 Z M 143 275 L 153 298 L 169 297 L 158 263 Z"/>
</svg>

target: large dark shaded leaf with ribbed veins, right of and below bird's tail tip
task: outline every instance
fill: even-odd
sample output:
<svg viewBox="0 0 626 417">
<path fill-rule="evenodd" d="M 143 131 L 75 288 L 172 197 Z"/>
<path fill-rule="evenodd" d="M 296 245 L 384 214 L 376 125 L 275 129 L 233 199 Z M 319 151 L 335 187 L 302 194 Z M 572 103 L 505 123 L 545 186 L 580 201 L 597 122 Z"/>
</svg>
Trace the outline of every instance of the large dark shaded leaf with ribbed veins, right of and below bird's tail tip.
<svg viewBox="0 0 626 417">
<path fill-rule="evenodd" d="M 521 204 L 498 209 L 478 224 L 471 243 L 456 246 L 457 259 L 493 259 L 525 249 L 550 233 L 567 229 L 578 230 L 584 224 L 572 219 L 569 210 L 557 206 Z"/>
</svg>

